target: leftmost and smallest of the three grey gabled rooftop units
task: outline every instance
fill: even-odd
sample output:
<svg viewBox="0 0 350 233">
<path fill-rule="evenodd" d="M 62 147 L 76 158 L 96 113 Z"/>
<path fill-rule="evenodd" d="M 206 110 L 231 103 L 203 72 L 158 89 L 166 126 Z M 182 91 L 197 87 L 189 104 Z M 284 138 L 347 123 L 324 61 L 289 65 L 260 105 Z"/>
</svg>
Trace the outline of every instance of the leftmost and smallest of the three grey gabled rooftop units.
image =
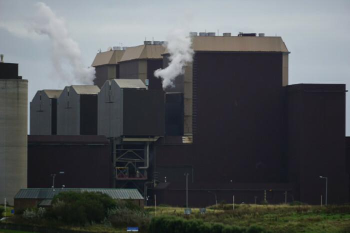
<svg viewBox="0 0 350 233">
<path fill-rule="evenodd" d="M 57 99 L 62 90 L 37 91 L 30 102 L 30 134 L 57 133 Z"/>
</svg>

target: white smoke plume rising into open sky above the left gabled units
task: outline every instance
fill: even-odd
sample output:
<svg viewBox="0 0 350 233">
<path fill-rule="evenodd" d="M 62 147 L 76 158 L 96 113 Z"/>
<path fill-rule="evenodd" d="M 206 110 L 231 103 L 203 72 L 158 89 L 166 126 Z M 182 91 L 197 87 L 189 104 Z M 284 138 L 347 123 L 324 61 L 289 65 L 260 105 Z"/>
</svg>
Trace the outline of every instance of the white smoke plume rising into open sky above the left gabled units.
<svg viewBox="0 0 350 233">
<path fill-rule="evenodd" d="M 37 2 L 36 7 L 37 12 L 31 26 L 36 33 L 48 35 L 50 38 L 50 56 L 55 72 L 64 81 L 70 82 L 68 84 L 92 85 L 95 69 L 83 66 L 79 45 L 70 37 L 64 19 L 57 17 L 43 2 Z M 64 65 L 70 66 L 70 74 Z"/>
</svg>

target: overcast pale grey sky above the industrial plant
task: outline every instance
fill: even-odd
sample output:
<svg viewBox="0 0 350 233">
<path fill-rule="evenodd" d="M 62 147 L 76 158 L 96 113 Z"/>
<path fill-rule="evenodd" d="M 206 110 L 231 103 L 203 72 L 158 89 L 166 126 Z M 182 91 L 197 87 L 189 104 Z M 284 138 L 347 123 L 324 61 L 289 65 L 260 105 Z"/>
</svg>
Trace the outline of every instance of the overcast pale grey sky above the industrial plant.
<svg viewBox="0 0 350 233">
<path fill-rule="evenodd" d="M 35 0 L 0 0 L 0 53 L 19 63 L 28 79 L 28 101 L 37 90 L 79 84 L 54 72 L 50 40 L 30 30 Z M 42 0 L 64 19 L 78 43 L 82 64 L 98 49 L 166 40 L 175 27 L 190 31 L 265 33 L 281 36 L 289 54 L 289 84 L 345 83 L 350 87 L 350 0 Z M 64 64 L 63 64 L 64 65 Z M 71 67 L 67 66 L 67 70 Z M 350 136 L 350 93 L 346 135 Z"/>
</svg>

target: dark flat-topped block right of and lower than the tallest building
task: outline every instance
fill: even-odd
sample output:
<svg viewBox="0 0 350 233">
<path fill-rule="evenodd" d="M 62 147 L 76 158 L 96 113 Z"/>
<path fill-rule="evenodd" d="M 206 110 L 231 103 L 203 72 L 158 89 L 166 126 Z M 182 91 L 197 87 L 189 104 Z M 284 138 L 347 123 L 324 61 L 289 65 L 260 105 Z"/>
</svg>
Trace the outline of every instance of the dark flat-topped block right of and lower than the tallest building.
<svg viewBox="0 0 350 233">
<path fill-rule="evenodd" d="M 345 171 L 345 85 L 288 86 L 288 180 L 297 184 L 297 199 L 319 204 L 348 200 Z M 313 185 L 310 185 L 313 184 Z"/>
</svg>

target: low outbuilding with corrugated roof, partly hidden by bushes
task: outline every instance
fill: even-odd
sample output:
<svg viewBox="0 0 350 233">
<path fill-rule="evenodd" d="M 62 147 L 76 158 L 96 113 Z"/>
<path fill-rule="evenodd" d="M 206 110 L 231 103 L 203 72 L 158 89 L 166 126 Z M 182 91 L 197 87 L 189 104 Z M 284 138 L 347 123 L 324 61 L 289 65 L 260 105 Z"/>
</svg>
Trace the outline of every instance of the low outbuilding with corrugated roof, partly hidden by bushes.
<svg viewBox="0 0 350 233">
<path fill-rule="evenodd" d="M 137 189 L 20 189 L 13 198 L 14 210 L 50 206 L 53 196 L 61 192 L 100 192 L 112 199 L 133 200 L 137 206 L 144 206 L 144 199 Z"/>
</svg>

